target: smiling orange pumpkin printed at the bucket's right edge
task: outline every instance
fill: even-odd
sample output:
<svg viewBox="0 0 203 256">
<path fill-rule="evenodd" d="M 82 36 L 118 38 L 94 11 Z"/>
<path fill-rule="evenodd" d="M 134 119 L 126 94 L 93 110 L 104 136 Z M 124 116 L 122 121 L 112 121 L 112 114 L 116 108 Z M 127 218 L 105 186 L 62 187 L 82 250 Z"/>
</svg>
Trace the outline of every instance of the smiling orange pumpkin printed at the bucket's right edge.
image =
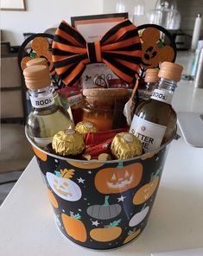
<svg viewBox="0 0 203 256">
<path fill-rule="evenodd" d="M 138 205 L 143 202 L 146 202 L 151 195 L 154 194 L 155 189 L 157 188 L 159 183 L 159 176 L 156 176 L 152 182 L 149 182 L 139 190 L 137 190 L 136 194 L 133 197 L 133 203 Z"/>
</svg>

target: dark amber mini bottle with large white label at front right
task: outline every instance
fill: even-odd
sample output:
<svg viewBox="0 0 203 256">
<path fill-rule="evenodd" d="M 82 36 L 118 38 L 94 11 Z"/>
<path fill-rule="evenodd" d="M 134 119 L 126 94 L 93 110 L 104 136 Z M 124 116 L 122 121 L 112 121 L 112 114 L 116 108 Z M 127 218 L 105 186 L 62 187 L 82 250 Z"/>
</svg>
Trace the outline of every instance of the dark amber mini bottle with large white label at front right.
<svg viewBox="0 0 203 256">
<path fill-rule="evenodd" d="M 158 88 L 149 100 L 136 107 L 130 132 L 142 141 L 145 152 L 158 149 L 174 135 L 177 117 L 171 101 L 182 69 L 179 64 L 163 62 Z"/>
</svg>

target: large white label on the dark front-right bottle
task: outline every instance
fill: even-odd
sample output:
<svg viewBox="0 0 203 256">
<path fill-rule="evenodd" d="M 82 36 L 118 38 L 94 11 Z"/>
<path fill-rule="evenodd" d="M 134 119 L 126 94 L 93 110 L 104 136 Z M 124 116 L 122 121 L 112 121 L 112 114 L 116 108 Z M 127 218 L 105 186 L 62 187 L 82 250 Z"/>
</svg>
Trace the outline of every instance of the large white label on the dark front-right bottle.
<svg viewBox="0 0 203 256">
<path fill-rule="evenodd" d="M 136 115 L 130 126 L 130 132 L 139 138 L 145 152 L 156 150 L 160 147 L 166 129 L 166 126 L 151 123 Z"/>
</svg>

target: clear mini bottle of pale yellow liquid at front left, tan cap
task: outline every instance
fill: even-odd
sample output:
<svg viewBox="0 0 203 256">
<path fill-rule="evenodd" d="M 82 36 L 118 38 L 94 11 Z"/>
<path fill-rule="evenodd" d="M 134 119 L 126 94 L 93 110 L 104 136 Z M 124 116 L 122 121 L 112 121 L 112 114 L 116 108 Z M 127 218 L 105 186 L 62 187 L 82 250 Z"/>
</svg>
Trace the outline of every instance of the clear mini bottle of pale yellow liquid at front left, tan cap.
<svg viewBox="0 0 203 256">
<path fill-rule="evenodd" d="M 69 114 L 54 103 L 54 86 L 50 85 L 47 66 L 26 67 L 23 75 L 32 104 L 32 111 L 27 118 L 29 137 L 46 150 L 55 133 L 72 129 L 74 125 Z"/>
</svg>

